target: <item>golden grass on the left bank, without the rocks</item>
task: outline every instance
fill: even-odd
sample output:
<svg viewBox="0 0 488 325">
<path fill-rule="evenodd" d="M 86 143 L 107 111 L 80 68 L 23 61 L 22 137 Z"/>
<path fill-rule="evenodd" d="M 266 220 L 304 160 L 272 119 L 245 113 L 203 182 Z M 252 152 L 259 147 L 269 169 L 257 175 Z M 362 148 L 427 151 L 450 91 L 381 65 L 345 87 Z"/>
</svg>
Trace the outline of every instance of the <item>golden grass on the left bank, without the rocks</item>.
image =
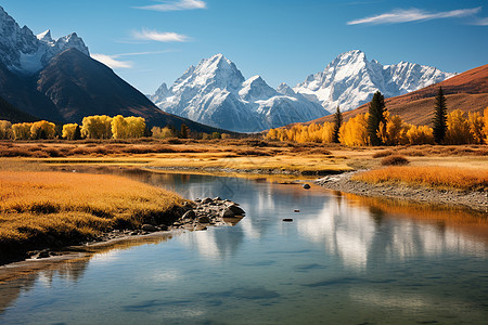
<svg viewBox="0 0 488 325">
<path fill-rule="evenodd" d="M 0 252 L 76 243 L 152 219 L 164 223 L 182 203 L 114 176 L 0 171 Z"/>
</svg>

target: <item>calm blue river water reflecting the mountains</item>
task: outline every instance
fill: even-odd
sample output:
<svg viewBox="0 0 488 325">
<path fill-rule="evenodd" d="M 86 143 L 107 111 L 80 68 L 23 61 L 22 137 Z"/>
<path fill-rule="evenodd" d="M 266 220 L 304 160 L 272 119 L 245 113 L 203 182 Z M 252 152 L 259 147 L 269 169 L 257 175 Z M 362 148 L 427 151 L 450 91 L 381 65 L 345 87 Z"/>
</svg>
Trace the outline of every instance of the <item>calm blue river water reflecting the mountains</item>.
<svg viewBox="0 0 488 325">
<path fill-rule="evenodd" d="M 247 216 L 2 283 L 0 324 L 488 322 L 486 217 L 262 180 L 129 177 Z"/>
</svg>

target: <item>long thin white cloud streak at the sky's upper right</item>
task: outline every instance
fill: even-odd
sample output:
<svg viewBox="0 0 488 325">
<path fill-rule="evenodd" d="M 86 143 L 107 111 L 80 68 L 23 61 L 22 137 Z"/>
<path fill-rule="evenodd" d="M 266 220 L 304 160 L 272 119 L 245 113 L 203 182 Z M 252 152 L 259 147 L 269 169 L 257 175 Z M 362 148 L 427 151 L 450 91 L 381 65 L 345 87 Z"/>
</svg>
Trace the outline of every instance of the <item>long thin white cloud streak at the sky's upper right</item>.
<svg viewBox="0 0 488 325">
<path fill-rule="evenodd" d="M 465 17 L 478 13 L 481 6 L 472 9 L 459 9 L 445 12 L 428 12 L 422 9 L 408 9 L 408 10 L 394 10 L 388 13 L 381 15 L 370 16 L 361 20 L 356 20 L 348 22 L 347 25 L 359 25 L 359 24 L 398 24 L 408 22 L 419 22 L 419 21 L 431 21 L 440 18 L 453 18 L 453 17 Z"/>
</svg>

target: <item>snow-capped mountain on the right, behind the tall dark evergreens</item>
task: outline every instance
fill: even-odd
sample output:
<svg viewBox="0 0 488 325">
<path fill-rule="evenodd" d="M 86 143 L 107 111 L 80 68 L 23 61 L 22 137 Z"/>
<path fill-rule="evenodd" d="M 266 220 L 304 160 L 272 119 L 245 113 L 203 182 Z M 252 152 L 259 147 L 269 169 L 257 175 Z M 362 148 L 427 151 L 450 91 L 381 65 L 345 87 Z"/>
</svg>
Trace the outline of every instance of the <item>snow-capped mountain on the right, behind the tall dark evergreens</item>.
<svg viewBox="0 0 488 325">
<path fill-rule="evenodd" d="M 335 112 L 337 105 L 342 110 L 350 110 L 371 101 L 377 90 L 385 98 L 391 98 L 454 75 L 409 62 L 382 65 L 375 60 L 368 61 L 363 52 L 354 50 L 338 55 L 323 72 L 310 75 L 294 90 L 329 112 Z"/>
</svg>

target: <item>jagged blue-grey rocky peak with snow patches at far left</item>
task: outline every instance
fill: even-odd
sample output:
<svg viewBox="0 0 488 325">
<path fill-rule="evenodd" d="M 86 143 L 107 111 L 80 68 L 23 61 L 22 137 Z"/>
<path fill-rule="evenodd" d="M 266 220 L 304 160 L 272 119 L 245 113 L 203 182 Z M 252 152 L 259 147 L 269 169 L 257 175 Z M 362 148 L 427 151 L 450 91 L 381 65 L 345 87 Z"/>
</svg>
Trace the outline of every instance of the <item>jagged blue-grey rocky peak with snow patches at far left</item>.
<svg viewBox="0 0 488 325">
<path fill-rule="evenodd" d="M 75 48 L 89 55 L 84 40 L 75 32 L 57 40 L 50 30 L 34 32 L 18 24 L 0 6 L 0 62 L 14 73 L 30 75 L 46 67 L 51 58 L 64 50 Z"/>
</svg>

